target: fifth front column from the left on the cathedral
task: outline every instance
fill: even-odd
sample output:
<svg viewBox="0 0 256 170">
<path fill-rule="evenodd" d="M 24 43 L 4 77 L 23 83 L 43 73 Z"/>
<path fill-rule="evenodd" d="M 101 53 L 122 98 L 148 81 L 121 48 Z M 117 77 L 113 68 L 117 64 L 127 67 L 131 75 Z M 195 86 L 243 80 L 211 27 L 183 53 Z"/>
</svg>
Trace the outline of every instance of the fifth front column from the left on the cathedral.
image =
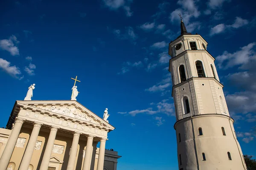
<svg viewBox="0 0 256 170">
<path fill-rule="evenodd" d="M 84 156 L 83 170 L 90 170 L 90 161 L 92 159 L 92 149 L 93 149 L 93 136 L 88 136 L 85 156 Z"/>
</svg>

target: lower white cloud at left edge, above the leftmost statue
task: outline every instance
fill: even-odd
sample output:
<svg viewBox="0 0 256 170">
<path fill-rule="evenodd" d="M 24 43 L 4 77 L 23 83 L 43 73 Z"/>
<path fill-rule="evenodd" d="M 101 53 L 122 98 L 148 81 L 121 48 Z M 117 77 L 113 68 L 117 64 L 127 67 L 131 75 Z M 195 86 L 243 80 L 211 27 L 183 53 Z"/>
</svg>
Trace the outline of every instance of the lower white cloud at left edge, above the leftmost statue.
<svg viewBox="0 0 256 170">
<path fill-rule="evenodd" d="M 10 66 L 11 62 L 6 61 L 5 59 L 0 58 L 0 68 L 17 79 L 20 79 L 18 76 L 21 74 L 20 69 L 18 67 Z"/>
</svg>

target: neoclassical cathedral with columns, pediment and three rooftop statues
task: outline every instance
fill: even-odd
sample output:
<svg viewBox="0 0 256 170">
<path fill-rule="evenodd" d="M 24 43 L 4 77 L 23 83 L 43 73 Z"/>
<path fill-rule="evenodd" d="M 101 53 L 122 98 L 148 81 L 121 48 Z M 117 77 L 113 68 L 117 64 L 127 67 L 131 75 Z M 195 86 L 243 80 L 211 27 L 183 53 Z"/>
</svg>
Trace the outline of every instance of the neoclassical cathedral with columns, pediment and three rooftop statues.
<svg viewBox="0 0 256 170">
<path fill-rule="evenodd" d="M 0 170 L 116 170 L 121 156 L 105 149 L 115 129 L 107 108 L 103 119 L 85 108 L 75 85 L 71 100 L 33 101 L 34 89 L 15 102 L 0 128 Z"/>
</svg>

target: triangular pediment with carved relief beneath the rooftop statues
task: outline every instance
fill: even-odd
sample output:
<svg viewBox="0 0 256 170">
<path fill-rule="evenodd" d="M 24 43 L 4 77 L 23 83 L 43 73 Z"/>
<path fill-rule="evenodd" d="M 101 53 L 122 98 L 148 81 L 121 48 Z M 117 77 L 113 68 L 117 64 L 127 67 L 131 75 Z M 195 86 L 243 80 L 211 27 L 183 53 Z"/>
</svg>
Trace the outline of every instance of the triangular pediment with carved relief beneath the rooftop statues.
<svg viewBox="0 0 256 170">
<path fill-rule="evenodd" d="M 114 129 L 108 122 L 85 108 L 79 102 L 73 100 L 17 101 L 17 105 L 25 105 L 25 107 L 31 107 L 32 110 L 48 112 L 53 115 L 56 114 L 67 119 L 86 122 L 87 124 L 104 126 L 110 130 Z"/>
</svg>

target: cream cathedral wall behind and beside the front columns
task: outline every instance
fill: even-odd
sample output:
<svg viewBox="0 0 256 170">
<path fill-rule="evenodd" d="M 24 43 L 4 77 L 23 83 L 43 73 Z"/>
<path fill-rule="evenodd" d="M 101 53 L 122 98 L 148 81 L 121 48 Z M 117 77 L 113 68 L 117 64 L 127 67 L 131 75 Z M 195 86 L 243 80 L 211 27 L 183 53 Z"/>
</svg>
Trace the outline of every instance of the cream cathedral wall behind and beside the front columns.
<svg viewBox="0 0 256 170">
<path fill-rule="evenodd" d="M 15 149 L 13 151 L 12 157 L 10 159 L 10 163 L 9 166 L 12 165 L 13 170 L 18 170 L 20 162 L 22 160 L 23 154 L 25 152 L 26 149 L 26 145 L 29 141 L 29 136 L 32 132 L 32 125 L 23 125 L 23 127 L 20 130 L 20 135 L 19 138 L 23 138 L 26 139 L 26 142 L 24 143 L 24 145 L 22 144 L 16 144 Z M 0 128 L 0 153 L 3 153 L 4 147 L 6 142 L 8 141 L 9 135 L 11 134 L 12 130 L 8 130 L 8 129 L 3 129 Z M 47 144 L 47 140 L 49 137 L 49 129 L 44 129 L 41 128 L 40 133 L 38 135 L 38 141 L 42 142 L 41 143 L 41 147 L 39 150 L 34 150 L 33 155 L 32 155 L 32 159 L 30 162 L 30 170 L 39 170 L 39 167 L 41 165 L 41 161 L 43 159 L 43 155 L 42 153 L 44 153 L 46 144 Z M 69 159 L 69 153 L 70 153 L 70 148 L 72 145 L 72 140 L 73 140 L 73 135 L 69 135 L 69 134 L 64 134 L 61 132 L 57 132 L 56 138 L 55 138 L 55 142 L 54 144 L 59 145 L 59 146 L 64 146 L 63 149 L 63 153 L 52 153 L 51 157 L 54 156 L 56 158 L 58 158 L 59 160 L 61 160 L 61 162 L 54 162 L 54 161 L 50 161 L 49 166 L 52 165 L 56 165 L 58 164 L 58 170 L 66 170 L 67 169 L 67 163 L 68 163 L 68 159 Z M 79 138 L 79 145 L 78 145 L 78 151 L 77 151 L 77 155 L 76 155 L 76 167 L 74 168 L 74 170 L 81 170 L 82 169 L 82 165 L 83 165 L 83 161 L 84 161 L 84 157 L 83 157 L 83 150 L 86 150 L 86 139 L 81 137 Z M 17 147 L 19 146 L 19 147 Z M 117 152 L 111 151 L 111 153 L 116 153 L 117 156 Z M 98 163 L 98 156 L 99 156 L 99 148 L 97 148 L 96 150 L 96 159 L 95 159 L 95 164 L 94 164 L 94 170 L 97 169 L 97 163 Z M 63 161 L 63 163 L 62 163 Z M 114 169 L 114 162 L 113 164 L 111 163 L 113 161 L 104 161 L 104 166 L 106 166 L 108 168 L 108 170 L 116 170 Z"/>
</svg>

